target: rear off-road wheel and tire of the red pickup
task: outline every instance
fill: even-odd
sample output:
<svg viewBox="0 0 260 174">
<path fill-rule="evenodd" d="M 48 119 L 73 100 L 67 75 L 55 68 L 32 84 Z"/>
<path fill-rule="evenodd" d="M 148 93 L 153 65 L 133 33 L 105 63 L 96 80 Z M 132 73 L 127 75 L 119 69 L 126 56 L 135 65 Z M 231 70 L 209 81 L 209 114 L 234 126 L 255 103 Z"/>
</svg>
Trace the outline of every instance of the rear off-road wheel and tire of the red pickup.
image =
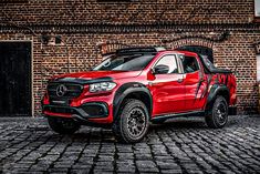
<svg viewBox="0 0 260 174">
<path fill-rule="evenodd" d="M 228 103 L 223 96 L 217 96 L 205 116 L 207 125 L 211 129 L 223 127 L 228 122 Z"/>
</svg>

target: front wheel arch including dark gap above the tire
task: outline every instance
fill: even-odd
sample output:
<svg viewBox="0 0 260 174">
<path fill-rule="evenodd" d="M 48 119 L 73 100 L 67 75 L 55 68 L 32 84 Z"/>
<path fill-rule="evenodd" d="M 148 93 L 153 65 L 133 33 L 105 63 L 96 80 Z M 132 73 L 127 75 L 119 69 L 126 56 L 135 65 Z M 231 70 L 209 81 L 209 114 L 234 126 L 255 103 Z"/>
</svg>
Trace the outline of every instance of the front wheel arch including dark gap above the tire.
<svg viewBox="0 0 260 174">
<path fill-rule="evenodd" d="M 153 113 L 153 98 L 149 90 L 142 83 L 131 82 L 119 86 L 115 93 L 113 100 L 114 119 L 118 115 L 119 108 L 126 99 L 136 99 L 142 101 L 146 105 L 150 117 Z"/>
</svg>

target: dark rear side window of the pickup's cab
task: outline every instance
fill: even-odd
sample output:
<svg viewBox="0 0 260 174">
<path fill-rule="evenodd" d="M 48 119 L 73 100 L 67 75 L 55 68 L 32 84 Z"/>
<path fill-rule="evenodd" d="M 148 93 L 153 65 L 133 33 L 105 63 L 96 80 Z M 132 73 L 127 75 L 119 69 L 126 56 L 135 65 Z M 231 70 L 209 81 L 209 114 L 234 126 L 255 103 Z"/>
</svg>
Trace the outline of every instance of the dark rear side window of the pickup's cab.
<svg viewBox="0 0 260 174">
<path fill-rule="evenodd" d="M 199 70 L 198 62 L 194 57 L 183 57 L 183 66 L 185 73 L 191 73 Z"/>
</svg>

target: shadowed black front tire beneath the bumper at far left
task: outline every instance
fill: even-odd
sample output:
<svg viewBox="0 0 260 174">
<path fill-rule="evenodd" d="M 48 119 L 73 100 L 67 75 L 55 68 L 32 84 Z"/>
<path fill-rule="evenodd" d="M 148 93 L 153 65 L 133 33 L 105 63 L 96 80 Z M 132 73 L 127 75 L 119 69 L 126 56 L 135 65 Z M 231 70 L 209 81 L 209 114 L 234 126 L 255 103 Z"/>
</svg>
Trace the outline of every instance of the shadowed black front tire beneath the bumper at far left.
<svg viewBox="0 0 260 174">
<path fill-rule="evenodd" d="M 59 134 L 73 134 L 81 126 L 72 119 L 49 116 L 50 127 Z"/>
</svg>

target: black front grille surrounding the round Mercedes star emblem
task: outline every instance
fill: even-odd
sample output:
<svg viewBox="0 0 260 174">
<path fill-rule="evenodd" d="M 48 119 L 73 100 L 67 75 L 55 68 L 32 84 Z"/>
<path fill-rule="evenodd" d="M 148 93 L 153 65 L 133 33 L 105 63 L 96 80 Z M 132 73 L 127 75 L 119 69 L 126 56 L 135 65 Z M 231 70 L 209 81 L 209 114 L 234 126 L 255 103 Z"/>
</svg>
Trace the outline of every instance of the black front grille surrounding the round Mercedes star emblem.
<svg viewBox="0 0 260 174">
<path fill-rule="evenodd" d="M 64 92 L 64 94 L 62 96 L 58 95 L 58 86 L 63 84 L 66 88 L 66 91 Z M 81 95 L 83 90 L 83 85 L 81 84 L 75 84 L 75 83 L 50 83 L 48 85 L 48 93 L 52 99 L 56 99 L 56 98 L 65 98 L 65 99 L 73 99 L 73 98 L 77 98 Z"/>
</svg>

